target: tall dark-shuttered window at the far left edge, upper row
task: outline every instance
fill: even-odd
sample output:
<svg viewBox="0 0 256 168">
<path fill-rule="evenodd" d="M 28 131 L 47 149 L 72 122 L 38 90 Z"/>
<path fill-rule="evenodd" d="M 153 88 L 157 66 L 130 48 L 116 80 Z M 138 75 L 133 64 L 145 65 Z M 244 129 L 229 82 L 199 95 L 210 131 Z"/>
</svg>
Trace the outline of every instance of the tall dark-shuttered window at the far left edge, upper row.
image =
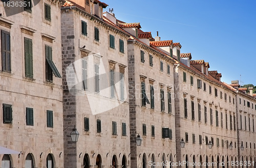
<svg viewBox="0 0 256 168">
<path fill-rule="evenodd" d="M 11 72 L 11 38 L 10 32 L 1 30 L 2 71 Z"/>
</svg>

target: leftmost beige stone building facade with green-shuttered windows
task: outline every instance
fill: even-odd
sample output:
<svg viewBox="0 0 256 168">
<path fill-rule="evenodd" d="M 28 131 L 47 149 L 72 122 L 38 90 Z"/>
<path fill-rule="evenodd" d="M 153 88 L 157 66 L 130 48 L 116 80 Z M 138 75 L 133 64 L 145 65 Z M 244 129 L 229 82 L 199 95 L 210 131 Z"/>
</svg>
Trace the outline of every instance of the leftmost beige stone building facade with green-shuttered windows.
<svg viewBox="0 0 256 168">
<path fill-rule="evenodd" d="M 27 3 L 0 3 L 1 165 L 63 167 L 61 2 Z"/>
</svg>

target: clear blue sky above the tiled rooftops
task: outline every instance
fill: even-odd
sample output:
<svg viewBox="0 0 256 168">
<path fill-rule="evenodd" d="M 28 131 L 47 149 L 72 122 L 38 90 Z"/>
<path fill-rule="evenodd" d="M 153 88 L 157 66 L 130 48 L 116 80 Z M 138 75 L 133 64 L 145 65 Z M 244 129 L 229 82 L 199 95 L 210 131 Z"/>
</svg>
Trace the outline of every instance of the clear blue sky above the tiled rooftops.
<svg viewBox="0 0 256 168">
<path fill-rule="evenodd" d="M 256 1 L 163 0 L 102 2 L 117 19 L 140 22 L 142 31 L 159 32 L 161 40 L 182 45 L 192 60 L 209 62 L 209 70 L 222 73 L 222 81 L 256 85 Z M 241 84 L 241 82 L 240 82 Z"/>
</svg>

